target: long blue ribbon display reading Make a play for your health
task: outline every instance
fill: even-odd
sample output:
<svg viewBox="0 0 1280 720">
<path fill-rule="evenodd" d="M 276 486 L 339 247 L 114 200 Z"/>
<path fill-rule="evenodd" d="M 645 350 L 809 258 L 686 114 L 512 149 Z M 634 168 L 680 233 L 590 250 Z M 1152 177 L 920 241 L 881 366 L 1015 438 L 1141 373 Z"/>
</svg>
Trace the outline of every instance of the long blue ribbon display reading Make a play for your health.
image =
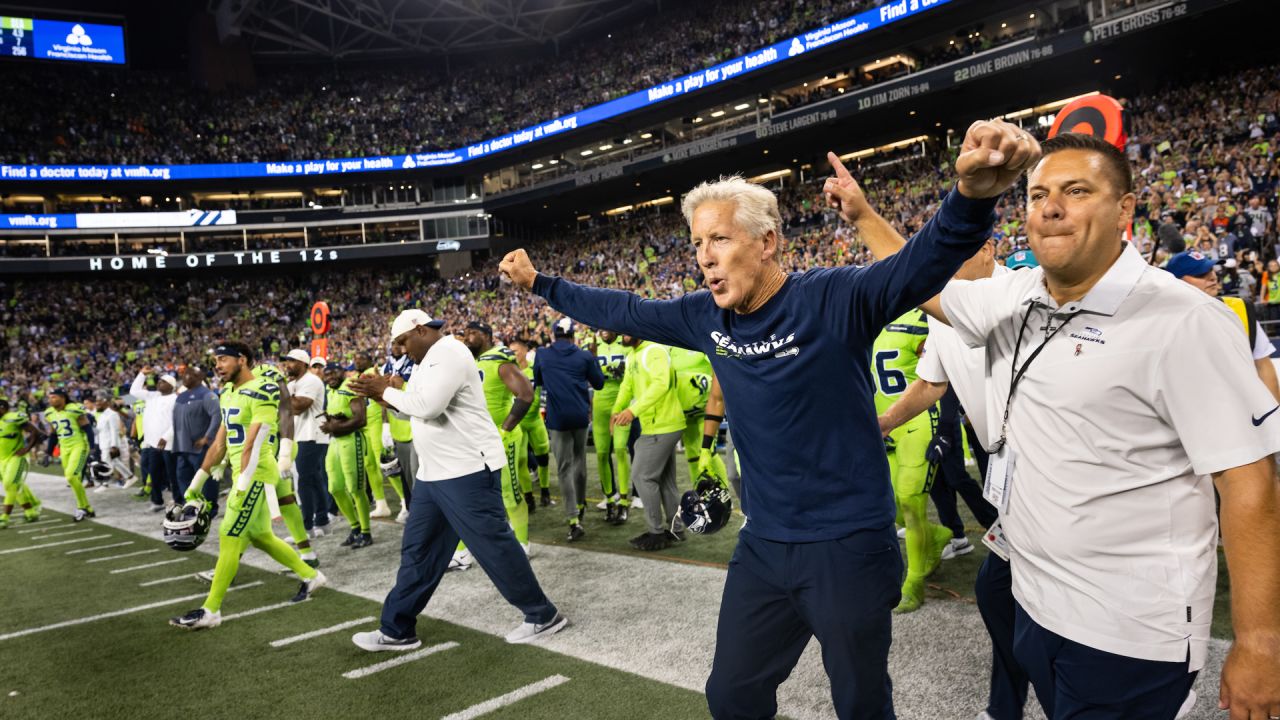
<svg viewBox="0 0 1280 720">
<path fill-rule="evenodd" d="M 795 37 L 774 42 L 741 58 L 675 78 L 648 90 L 632 92 L 600 105 L 593 105 L 580 113 L 562 115 L 517 132 L 485 140 L 458 150 L 443 152 L 419 152 L 411 155 L 384 155 L 375 158 L 344 158 L 316 160 L 287 160 L 279 163 L 214 163 L 200 165 L 0 165 L 3 181 L 170 181 L 170 179 L 220 179 L 220 178 L 275 178 L 275 177 L 314 177 L 348 173 L 388 172 L 399 169 L 433 168 L 456 165 L 485 158 L 495 152 L 521 147 L 539 140 L 563 135 L 568 131 L 586 127 L 600 120 L 616 118 L 625 113 L 646 108 L 658 102 L 681 97 L 727 79 L 753 73 L 762 68 L 788 60 L 804 53 L 858 37 L 876 28 L 902 20 L 925 10 L 938 8 L 951 0 L 897 0 L 872 10 L 845 18 Z M 37 26 L 46 20 L 36 20 Z M 65 32 L 74 33 L 74 23 Z M 91 28 L 110 26 L 81 26 L 93 42 L 97 37 Z M 38 29 L 38 27 L 37 27 Z M 123 32 L 119 32 L 119 54 L 123 61 Z M 61 31 L 59 31 L 61 32 Z M 65 38 L 64 38 L 65 40 Z M 65 42 L 63 44 L 65 50 Z M 42 44 L 37 38 L 36 51 Z M 77 45 L 78 47 L 78 45 Z M 63 51 L 63 50 L 60 50 Z"/>
</svg>

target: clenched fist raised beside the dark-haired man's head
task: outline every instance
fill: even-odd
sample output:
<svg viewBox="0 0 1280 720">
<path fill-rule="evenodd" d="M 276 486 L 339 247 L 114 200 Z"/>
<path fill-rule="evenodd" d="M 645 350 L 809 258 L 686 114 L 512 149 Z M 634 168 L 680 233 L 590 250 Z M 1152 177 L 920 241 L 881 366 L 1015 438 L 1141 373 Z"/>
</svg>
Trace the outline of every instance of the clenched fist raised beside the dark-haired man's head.
<svg viewBox="0 0 1280 720">
<path fill-rule="evenodd" d="M 1012 187 L 1039 155 L 1039 142 L 1018 126 L 978 120 L 965 132 L 956 158 L 956 187 L 965 197 L 995 197 Z"/>
</svg>

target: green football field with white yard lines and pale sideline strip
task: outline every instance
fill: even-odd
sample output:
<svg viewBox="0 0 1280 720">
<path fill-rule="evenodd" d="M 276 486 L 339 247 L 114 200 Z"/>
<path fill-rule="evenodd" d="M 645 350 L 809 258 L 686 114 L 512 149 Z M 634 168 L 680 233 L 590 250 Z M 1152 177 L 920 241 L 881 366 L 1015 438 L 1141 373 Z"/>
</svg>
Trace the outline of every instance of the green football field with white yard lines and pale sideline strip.
<svg viewBox="0 0 1280 720">
<path fill-rule="evenodd" d="M 399 527 L 389 521 L 375 524 L 375 547 L 360 553 L 337 547 L 340 534 L 320 538 L 330 587 L 298 605 L 287 602 L 297 580 L 250 551 L 224 602 L 223 625 L 191 633 L 166 620 L 204 600 L 206 585 L 193 574 L 212 566 L 204 551 L 214 539 L 200 552 L 172 551 L 157 539 L 159 516 L 128 491 L 91 493 L 96 521 L 73 524 L 52 509 L 40 523 L 18 520 L 0 532 L 0 657 L 8 670 L 0 717 L 134 719 L 188 707 L 237 720 L 707 717 L 699 689 L 741 516 L 716 536 L 639 553 L 627 539 L 643 530 L 641 511 L 626 527 L 605 524 L 594 507 L 594 462 L 589 473 L 596 497 L 584 539 L 566 542 L 559 505 L 530 518 L 534 569 L 548 594 L 571 609 L 568 630 L 552 638 L 550 648 L 502 641 L 518 612 L 495 597 L 479 570 L 442 583 L 428 607 L 438 609 L 435 615 L 419 623 L 421 651 L 406 657 L 352 646 L 353 632 L 376 628 L 378 600 L 394 578 Z M 682 466 L 680 477 L 686 488 Z M 47 506 L 69 507 L 60 478 L 33 474 L 32 486 Z M 558 501 L 554 474 L 552 491 Z M 390 489 L 387 496 L 398 509 Z M 980 528 L 968 521 L 977 550 L 941 565 L 922 611 L 895 618 L 899 717 L 940 717 L 940 705 L 946 716 L 963 716 L 952 708 L 980 710 L 989 651 L 975 619 L 973 578 L 986 548 Z M 275 529 L 285 534 L 280 523 Z M 1220 588 L 1213 634 L 1229 638 L 1225 564 Z M 490 605 L 467 611 L 481 601 Z M 695 635 L 700 647 L 690 650 L 686 638 Z M 829 716 L 820 659 L 812 655 L 780 691 L 791 717 Z M 399 664 L 381 665 L 389 660 Z M 929 661 L 963 673 L 940 676 L 920 665 Z M 1216 692 L 1216 671 L 1211 675 L 1201 682 L 1202 694 Z M 1028 714 L 1036 717 L 1038 711 Z"/>
</svg>

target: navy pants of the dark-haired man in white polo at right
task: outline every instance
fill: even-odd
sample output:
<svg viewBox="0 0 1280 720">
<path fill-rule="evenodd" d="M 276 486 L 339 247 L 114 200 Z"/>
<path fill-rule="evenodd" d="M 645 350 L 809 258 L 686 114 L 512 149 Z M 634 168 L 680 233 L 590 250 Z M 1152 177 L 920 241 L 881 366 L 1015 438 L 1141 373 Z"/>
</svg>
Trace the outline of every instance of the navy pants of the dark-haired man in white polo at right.
<svg viewBox="0 0 1280 720">
<path fill-rule="evenodd" d="M 1014 653 L 1050 720 L 1174 720 L 1196 682 L 1188 662 L 1138 660 L 1069 641 L 1016 606 Z"/>
</svg>

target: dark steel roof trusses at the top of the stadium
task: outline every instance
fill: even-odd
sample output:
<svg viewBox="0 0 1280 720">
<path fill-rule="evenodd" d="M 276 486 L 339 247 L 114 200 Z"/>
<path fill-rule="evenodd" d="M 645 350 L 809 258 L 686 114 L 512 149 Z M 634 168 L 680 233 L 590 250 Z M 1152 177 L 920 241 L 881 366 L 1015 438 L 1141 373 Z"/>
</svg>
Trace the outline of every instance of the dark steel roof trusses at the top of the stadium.
<svg viewBox="0 0 1280 720">
<path fill-rule="evenodd" d="M 658 0 L 209 0 L 223 40 L 282 60 L 544 46 Z"/>
</svg>

